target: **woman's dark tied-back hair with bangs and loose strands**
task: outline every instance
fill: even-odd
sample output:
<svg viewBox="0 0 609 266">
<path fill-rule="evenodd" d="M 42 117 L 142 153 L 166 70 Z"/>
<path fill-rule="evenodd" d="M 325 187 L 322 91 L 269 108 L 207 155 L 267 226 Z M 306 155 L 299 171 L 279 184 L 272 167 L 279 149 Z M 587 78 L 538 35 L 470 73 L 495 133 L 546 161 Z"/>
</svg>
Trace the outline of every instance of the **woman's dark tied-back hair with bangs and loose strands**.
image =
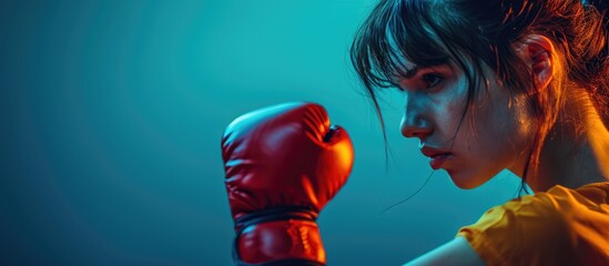
<svg viewBox="0 0 609 266">
<path fill-rule="evenodd" d="M 510 93 L 530 94 L 527 105 L 539 130 L 522 173 L 526 191 L 527 171 L 531 166 L 534 176 L 537 173 L 541 145 L 556 122 L 565 90 L 586 88 L 609 125 L 606 12 L 579 0 L 382 0 L 357 31 L 351 58 L 373 100 L 385 140 L 375 90 L 397 86 L 393 76 L 407 71 L 400 59 L 418 66 L 451 62 L 464 71 L 468 94 L 461 123 L 480 84 L 488 90 L 484 65 L 495 70 Z M 552 41 L 558 51 L 555 60 L 562 65 L 555 68 L 557 79 L 548 93 L 536 93 L 534 79 L 512 45 L 534 33 Z"/>
</svg>

